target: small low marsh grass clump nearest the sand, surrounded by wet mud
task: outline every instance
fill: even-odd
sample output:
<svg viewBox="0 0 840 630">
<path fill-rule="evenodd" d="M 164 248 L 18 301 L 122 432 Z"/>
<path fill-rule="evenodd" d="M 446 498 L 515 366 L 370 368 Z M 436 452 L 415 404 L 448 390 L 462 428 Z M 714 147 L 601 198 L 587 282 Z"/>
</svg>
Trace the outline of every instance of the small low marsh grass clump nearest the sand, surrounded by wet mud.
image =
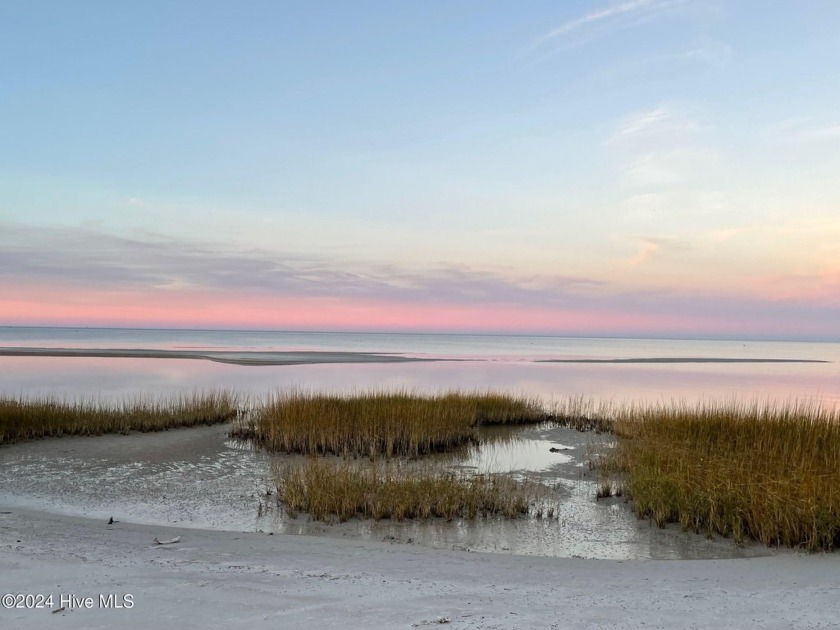
<svg viewBox="0 0 840 630">
<path fill-rule="evenodd" d="M 275 471 L 277 500 L 295 516 L 345 522 L 351 518 L 393 519 L 516 517 L 529 497 L 506 476 L 465 475 L 431 465 L 360 463 L 308 458 Z"/>
</svg>

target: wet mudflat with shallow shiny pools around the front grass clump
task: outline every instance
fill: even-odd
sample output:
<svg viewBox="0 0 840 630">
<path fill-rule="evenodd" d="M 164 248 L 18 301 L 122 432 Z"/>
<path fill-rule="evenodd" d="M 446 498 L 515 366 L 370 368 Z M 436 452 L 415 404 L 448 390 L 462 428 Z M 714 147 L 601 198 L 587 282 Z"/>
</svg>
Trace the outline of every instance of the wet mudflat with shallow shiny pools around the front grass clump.
<svg viewBox="0 0 840 630">
<path fill-rule="evenodd" d="M 639 521 L 620 498 L 595 500 L 591 448 L 609 436 L 543 425 L 488 432 L 448 465 L 511 472 L 544 484 L 551 518 L 314 522 L 276 504 L 275 456 L 227 437 L 228 427 L 71 437 L 0 447 L 0 505 L 115 520 L 232 531 L 353 537 L 431 547 L 587 558 L 734 558 L 757 545 L 707 540 Z M 552 452 L 550 449 L 554 448 Z M 299 459 L 299 458 L 298 458 Z"/>
</svg>

